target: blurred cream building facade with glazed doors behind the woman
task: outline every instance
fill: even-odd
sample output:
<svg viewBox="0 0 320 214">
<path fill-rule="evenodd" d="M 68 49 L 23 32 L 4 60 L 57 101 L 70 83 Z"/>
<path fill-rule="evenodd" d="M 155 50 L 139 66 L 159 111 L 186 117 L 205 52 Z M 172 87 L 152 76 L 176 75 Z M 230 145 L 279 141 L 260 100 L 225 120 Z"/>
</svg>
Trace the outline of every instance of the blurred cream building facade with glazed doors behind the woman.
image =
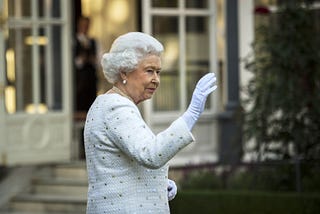
<svg viewBox="0 0 320 214">
<path fill-rule="evenodd" d="M 112 41 L 128 31 L 150 33 L 164 44 L 161 87 L 152 100 L 139 106 L 155 132 L 183 113 L 201 76 L 208 71 L 217 74 L 218 90 L 209 97 L 193 130 L 197 143 L 183 150 L 172 164 L 218 162 L 222 141 L 228 139 L 221 136 L 225 128 L 221 114 L 232 104 L 230 91 L 240 94 L 239 88 L 249 78 L 237 60 L 232 62 L 237 75 L 230 81 L 227 65 L 232 63 L 228 64 L 227 52 L 233 47 L 228 47 L 226 23 L 230 17 L 235 20 L 231 22 L 237 30 L 235 56 L 242 58 L 254 38 L 255 5 L 272 2 L 0 0 L 0 165 L 80 158 L 83 118 L 74 117 L 72 52 L 80 15 L 90 17 L 89 33 L 98 41 L 98 61 Z M 232 11 L 235 13 L 228 14 Z M 100 67 L 97 75 L 98 95 L 110 85 Z M 237 84 L 232 85 L 234 81 Z M 239 96 L 233 101 L 236 107 L 240 105 Z M 236 135 L 228 130 L 224 135 Z M 237 142 L 239 149 L 241 139 Z"/>
</svg>

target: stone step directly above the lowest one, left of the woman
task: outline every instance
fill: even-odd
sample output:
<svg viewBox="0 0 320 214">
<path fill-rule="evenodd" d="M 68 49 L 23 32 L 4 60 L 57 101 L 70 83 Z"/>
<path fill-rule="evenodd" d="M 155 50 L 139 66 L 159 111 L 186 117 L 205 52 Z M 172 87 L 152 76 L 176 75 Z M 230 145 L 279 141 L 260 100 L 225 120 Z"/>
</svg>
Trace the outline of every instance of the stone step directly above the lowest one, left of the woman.
<svg viewBox="0 0 320 214">
<path fill-rule="evenodd" d="M 87 195 L 87 190 L 87 180 L 40 178 L 33 180 L 30 191 L 33 194 L 52 194 L 85 197 Z"/>
</svg>

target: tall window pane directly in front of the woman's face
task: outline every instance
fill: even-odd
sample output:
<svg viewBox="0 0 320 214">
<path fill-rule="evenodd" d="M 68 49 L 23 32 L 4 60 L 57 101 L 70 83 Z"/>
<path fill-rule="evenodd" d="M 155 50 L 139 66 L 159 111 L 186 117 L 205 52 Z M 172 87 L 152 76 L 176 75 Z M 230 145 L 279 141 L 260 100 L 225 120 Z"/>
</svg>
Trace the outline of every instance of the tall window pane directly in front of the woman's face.
<svg viewBox="0 0 320 214">
<path fill-rule="evenodd" d="M 160 26 L 163 27 L 160 27 Z M 179 38 L 177 34 L 178 18 L 156 16 L 153 19 L 153 36 L 163 45 L 161 84 L 153 97 L 155 111 L 179 110 Z"/>
</svg>

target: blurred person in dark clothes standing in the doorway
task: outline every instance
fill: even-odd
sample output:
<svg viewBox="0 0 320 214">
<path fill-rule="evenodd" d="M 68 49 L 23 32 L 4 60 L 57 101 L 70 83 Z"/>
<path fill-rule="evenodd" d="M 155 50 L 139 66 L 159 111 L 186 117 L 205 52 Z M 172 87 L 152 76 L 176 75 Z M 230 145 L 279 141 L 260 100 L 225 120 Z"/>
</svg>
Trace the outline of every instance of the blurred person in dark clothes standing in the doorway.
<svg viewBox="0 0 320 214">
<path fill-rule="evenodd" d="M 97 93 L 97 47 L 88 36 L 90 19 L 80 17 L 75 42 L 75 110 L 87 112 Z M 84 119 L 84 118 L 83 118 Z"/>
</svg>

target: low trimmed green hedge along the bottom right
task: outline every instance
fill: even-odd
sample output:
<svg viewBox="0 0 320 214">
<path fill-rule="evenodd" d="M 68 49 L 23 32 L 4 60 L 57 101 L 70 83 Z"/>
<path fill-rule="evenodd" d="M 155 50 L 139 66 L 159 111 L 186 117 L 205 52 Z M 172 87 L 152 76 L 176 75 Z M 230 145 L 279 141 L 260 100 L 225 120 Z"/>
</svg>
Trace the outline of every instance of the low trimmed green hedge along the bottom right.
<svg viewBox="0 0 320 214">
<path fill-rule="evenodd" d="M 179 191 L 172 214 L 317 214 L 320 193 Z"/>
</svg>

